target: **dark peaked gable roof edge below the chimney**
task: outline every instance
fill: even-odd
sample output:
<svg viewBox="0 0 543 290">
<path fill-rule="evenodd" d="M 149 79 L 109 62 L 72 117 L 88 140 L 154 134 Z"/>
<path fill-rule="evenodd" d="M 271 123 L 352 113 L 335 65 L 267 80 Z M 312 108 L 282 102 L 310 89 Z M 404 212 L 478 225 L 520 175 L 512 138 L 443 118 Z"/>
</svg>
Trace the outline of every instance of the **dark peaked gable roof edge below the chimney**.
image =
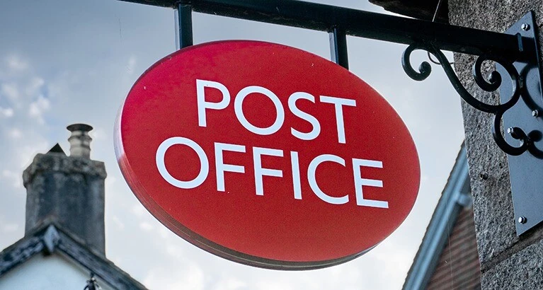
<svg viewBox="0 0 543 290">
<path fill-rule="evenodd" d="M 24 238 L 0 252 L 0 278 L 35 255 L 53 253 L 69 257 L 115 289 L 147 289 L 113 262 L 89 249 L 81 240 L 54 223 L 27 233 Z"/>
</svg>

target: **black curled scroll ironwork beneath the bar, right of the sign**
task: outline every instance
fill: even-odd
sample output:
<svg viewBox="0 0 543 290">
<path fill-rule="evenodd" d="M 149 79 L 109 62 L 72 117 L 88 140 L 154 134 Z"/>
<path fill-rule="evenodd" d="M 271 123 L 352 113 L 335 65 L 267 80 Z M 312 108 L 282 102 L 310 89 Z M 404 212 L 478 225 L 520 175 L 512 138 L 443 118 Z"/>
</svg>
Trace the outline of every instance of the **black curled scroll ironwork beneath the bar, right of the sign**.
<svg viewBox="0 0 543 290">
<path fill-rule="evenodd" d="M 492 136 L 494 141 L 502 151 L 508 153 L 509 155 L 518 156 L 530 149 L 530 146 L 532 146 L 532 141 L 530 140 L 530 137 L 528 137 L 527 134 L 525 134 L 525 132 L 519 127 L 510 127 L 507 129 L 508 134 L 510 134 L 511 137 L 520 140 L 520 146 L 518 147 L 508 144 L 501 133 L 501 120 L 503 114 L 507 112 L 507 110 L 509 110 L 510 108 L 513 108 L 513 106 L 518 102 L 518 100 L 520 99 L 520 94 L 522 93 L 522 88 L 524 87 L 522 83 L 523 80 L 519 77 L 518 71 L 515 69 L 515 66 L 513 66 L 512 62 L 508 62 L 505 59 L 491 57 L 488 55 L 481 55 L 477 57 L 473 65 L 472 74 L 475 83 L 477 84 L 477 86 L 479 86 L 479 88 L 487 92 L 497 91 L 503 81 L 503 76 L 498 71 L 492 71 L 492 73 L 488 77 L 488 80 L 484 78 L 481 73 L 481 66 L 486 61 L 495 62 L 496 64 L 503 66 L 505 71 L 507 71 L 508 73 L 508 76 L 506 77 L 511 81 L 512 90 L 508 101 L 505 103 L 501 103 L 500 105 L 490 105 L 487 103 L 483 103 L 480 100 L 477 100 L 473 95 L 471 95 L 471 93 L 467 91 L 466 88 L 464 88 L 464 86 L 458 79 L 458 76 L 456 75 L 454 69 L 452 69 L 452 66 L 450 65 L 447 57 L 445 57 L 445 54 L 443 54 L 441 50 L 434 47 L 433 45 L 426 45 L 424 43 L 413 43 L 409 45 L 404 51 L 404 54 L 401 58 L 401 65 L 404 67 L 404 71 L 409 77 L 411 77 L 411 79 L 415 81 L 423 81 L 428 78 L 428 76 L 430 76 L 430 73 L 432 72 L 432 67 L 428 62 L 422 62 L 421 65 L 418 67 L 418 71 L 416 69 L 413 69 L 413 66 L 411 66 L 410 58 L 411 53 L 415 50 L 424 50 L 426 52 L 429 52 L 430 54 L 433 54 L 434 57 L 438 59 L 440 65 L 445 71 L 445 74 L 447 75 L 447 78 L 452 83 L 452 86 L 455 88 L 460 97 L 466 101 L 466 103 L 471 105 L 471 107 L 476 108 L 477 110 L 480 110 L 482 112 L 488 112 L 494 115 L 494 121 L 491 128 Z"/>
</svg>

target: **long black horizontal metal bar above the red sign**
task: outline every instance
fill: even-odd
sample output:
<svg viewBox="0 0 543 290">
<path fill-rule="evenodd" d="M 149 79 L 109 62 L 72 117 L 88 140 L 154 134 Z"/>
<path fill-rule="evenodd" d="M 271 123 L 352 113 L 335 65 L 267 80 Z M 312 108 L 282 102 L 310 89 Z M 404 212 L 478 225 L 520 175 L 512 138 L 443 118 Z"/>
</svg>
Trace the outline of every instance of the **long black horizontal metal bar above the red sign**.
<svg viewBox="0 0 543 290">
<path fill-rule="evenodd" d="M 154 6 L 192 6 L 193 11 L 217 16 L 288 25 L 329 32 L 341 27 L 347 35 L 411 44 L 430 42 L 440 50 L 523 58 L 515 35 L 494 33 L 412 18 L 294 0 L 121 0 Z M 524 41 L 524 40 L 522 40 Z"/>
</svg>

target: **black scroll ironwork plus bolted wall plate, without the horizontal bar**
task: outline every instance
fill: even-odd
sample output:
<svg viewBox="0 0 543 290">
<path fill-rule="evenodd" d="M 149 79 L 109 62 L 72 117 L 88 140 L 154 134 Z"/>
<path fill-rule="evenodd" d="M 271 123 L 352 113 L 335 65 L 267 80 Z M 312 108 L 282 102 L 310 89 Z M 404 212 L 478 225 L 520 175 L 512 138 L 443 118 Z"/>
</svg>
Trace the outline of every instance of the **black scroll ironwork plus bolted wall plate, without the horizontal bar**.
<svg viewBox="0 0 543 290">
<path fill-rule="evenodd" d="M 409 45 L 402 57 L 402 66 L 411 79 L 422 81 L 430 75 L 430 64 L 423 62 L 416 71 L 409 63 L 409 57 L 413 50 L 430 52 L 438 58 L 452 86 L 466 103 L 494 115 L 492 136 L 500 149 L 508 154 L 515 227 L 520 236 L 543 221 L 543 190 L 540 185 L 543 176 L 543 92 L 537 26 L 533 13 L 525 14 L 505 33 L 519 39 L 532 40 L 531 43 L 523 41 L 527 46 L 520 46 L 520 49 L 526 52 L 525 56 L 521 59 L 507 59 L 499 55 L 483 54 L 476 59 L 472 70 L 474 81 L 479 88 L 487 92 L 499 90 L 499 105 L 489 105 L 474 98 L 459 81 L 445 55 L 431 42 Z M 492 71 L 488 80 L 481 74 L 481 66 L 485 61 L 496 64 L 496 71 Z M 507 128 L 505 137 L 501 129 L 502 119 L 504 127 Z M 518 146 L 510 145 L 515 143 Z"/>
</svg>

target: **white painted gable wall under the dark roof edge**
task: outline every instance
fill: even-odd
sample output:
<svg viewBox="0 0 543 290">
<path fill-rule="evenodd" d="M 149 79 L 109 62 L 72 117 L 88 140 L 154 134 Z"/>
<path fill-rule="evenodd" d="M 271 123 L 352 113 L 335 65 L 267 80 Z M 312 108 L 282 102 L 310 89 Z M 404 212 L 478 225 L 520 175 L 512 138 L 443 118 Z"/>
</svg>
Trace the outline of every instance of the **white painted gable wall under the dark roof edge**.
<svg viewBox="0 0 543 290">
<path fill-rule="evenodd" d="M 83 290 L 89 278 L 88 269 L 67 257 L 58 254 L 49 256 L 38 254 L 0 277 L 0 289 Z M 96 278 L 103 290 L 113 290 L 110 285 Z"/>
</svg>

